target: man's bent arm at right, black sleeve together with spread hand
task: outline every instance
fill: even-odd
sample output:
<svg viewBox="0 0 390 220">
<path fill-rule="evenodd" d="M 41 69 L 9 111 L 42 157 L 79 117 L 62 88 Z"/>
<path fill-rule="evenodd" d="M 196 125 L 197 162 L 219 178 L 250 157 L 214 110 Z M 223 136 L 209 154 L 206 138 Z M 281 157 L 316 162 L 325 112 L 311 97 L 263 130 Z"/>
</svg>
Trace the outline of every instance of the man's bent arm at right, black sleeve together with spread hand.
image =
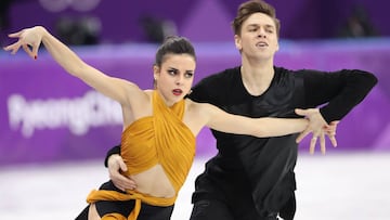
<svg viewBox="0 0 390 220">
<path fill-rule="evenodd" d="M 297 138 L 297 142 L 300 142 L 312 132 L 310 152 L 314 152 L 317 137 L 320 137 L 322 152 L 325 153 L 324 133 L 320 132 L 322 130 L 321 124 L 325 125 L 326 129 L 334 130 L 326 134 L 333 145 L 336 146 L 335 134 L 337 124 L 364 100 L 378 79 L 372 73 L 359 69 L 342 69 L 333 73 L 301 70 L 298 74 L 302 74 L 303 77 L 306 107 L 322 106 L 318 113 L 303 114 L 307 117 L 310 115 L 311 124 Z"/>
</svg>

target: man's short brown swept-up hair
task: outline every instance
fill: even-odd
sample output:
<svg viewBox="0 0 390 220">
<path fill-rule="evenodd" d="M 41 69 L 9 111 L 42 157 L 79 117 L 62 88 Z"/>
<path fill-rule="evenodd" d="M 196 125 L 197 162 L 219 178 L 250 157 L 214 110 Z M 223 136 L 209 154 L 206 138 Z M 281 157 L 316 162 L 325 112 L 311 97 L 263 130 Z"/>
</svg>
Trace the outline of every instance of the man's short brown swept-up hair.
<svg viewBox="0 0 390 220">
<path fill-rule="evenodd" d="M 276 18 L 275 8 L 262 0 L 249 0 L 239 5 L 237 15 L 232 22 L 235 35 L 240 35 L 243 23 L 255 13 L 269 15 L 275 23 L 277 37 L 280 36 L 281 22 Z"/>
</svg>

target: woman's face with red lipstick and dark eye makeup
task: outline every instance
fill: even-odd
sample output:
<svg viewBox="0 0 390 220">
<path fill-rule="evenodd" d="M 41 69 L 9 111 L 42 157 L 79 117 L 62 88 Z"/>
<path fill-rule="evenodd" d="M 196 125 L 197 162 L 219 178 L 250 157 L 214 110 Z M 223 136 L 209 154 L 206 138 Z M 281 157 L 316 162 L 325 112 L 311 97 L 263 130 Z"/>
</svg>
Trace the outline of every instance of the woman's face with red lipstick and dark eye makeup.
<svg viewBox="0 0 390 220">
<path fill-rule="evenodd" d="M 196 62 L 190 54 L 166 54 L 161 66 L 154 66 L 157 90 L 168 106 L 181 101 L 191 90 Z"/>
</svg>

